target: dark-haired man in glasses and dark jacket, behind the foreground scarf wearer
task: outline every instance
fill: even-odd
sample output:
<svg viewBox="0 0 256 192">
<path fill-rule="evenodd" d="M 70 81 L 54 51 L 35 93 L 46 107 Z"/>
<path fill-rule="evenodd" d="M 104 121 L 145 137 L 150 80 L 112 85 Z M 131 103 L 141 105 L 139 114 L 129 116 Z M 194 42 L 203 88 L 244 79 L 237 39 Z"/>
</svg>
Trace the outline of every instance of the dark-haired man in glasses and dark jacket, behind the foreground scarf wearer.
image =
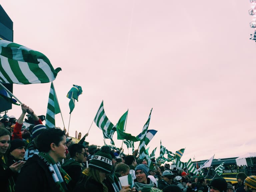
<svg viewBox="0 0 256 192">
<path fill-rule="evenodd" d="M 68 183 L 69 190 L 72 191 L 76 183 L 79 180 L 80 174 L 83 171 L 81 163 L 83 163 L 85 153 L 85 146 L 75 143 L 71 144 L 68 148 L 70 159 L 66 160 L 62 165 L 62 168 L 67 172 L 71 177 L 71 181 Z"/>
</svg>

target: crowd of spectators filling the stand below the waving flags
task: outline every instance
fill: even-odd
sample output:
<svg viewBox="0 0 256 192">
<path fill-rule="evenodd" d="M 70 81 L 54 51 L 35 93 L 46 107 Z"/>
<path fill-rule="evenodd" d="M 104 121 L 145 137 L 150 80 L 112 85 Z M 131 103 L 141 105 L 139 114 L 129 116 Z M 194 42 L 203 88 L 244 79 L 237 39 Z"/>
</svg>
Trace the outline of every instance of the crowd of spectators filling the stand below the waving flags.
<svg viewBox="0 0 256 192">
<path fill-rule="evenodd" d="M 210 181 L 155 159 L 148 165 L 138 150 L 125 155 L 107 145 L 84 145 L 88 133 L 73 143 L 60 128 L 44 126 L 29 106 L 21 109 L 18 119 L 0 119 L 3 192 L 256 192 L 256 176 L 240 172 L 233 186 L 221 177 Z M 26 113 L 34 121 L 27 128 Z"/>
</svg>

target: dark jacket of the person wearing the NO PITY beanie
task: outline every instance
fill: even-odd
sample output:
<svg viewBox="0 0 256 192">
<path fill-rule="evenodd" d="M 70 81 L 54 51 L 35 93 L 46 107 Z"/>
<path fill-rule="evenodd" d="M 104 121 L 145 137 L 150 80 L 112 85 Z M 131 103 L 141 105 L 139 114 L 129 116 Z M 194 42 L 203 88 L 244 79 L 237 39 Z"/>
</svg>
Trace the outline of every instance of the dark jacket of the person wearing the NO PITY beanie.
<svg viewBox="0 0 256 192">
<path fill-rule="evenodd" d="M 103 185 L 95 181 L 94 179 L 88 179 L 88 177 L 82 174 L 81 180 L 78 181 L 76 186 L 74 187 L 73 192 L 103 192 Z"/>
</svg>

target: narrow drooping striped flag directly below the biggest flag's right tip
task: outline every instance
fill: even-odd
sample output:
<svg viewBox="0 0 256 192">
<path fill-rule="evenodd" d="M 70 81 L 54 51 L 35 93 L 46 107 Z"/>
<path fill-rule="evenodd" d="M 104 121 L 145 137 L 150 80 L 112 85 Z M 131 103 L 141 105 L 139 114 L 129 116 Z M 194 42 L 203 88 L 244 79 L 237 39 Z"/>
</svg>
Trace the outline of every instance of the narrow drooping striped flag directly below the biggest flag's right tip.
<svg viewBox="0 0 256 192">
<path fill-rule="evenodd" d="M 45 117 L 45 126 L 48 128 L 55 127 L 55 114 L 60 113 L 60 106 L 56 97 L 55 89 L 53 82 L 51 83 L 46 117 Z"/>
</svg>

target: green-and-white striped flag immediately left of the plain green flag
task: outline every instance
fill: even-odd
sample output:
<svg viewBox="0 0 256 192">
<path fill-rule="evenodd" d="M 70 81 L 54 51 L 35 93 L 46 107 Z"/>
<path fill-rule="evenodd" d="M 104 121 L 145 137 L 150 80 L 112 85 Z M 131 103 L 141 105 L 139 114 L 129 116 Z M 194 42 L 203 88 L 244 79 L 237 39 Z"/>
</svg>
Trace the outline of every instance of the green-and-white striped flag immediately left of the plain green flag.
<svg viewBox="0 0 256 192">
<path fill-rule="evenodd" d="M 100 104 L 100 108 L 94 118 L 94 122 L 102 130 L 103 137 L 105 139 L 110 139 L 111 145 L 115 145 L 112 138 L 116 128 L 114 127 L 113 123 L 109 121 L 108 117 L 105 114 L 103 101 Z"/>
</svg>

